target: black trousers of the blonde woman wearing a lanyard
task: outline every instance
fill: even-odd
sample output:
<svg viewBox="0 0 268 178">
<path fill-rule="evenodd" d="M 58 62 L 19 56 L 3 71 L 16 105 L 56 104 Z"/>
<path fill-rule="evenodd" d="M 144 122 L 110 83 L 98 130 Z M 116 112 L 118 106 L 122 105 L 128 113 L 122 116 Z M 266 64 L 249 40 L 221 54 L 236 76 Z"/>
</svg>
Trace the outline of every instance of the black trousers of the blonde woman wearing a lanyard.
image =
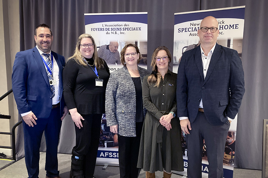
<svg viewBox="0 0 268 178">
<path fill-rule="evenodd" d="M 75 152 L 84 156 L 83 173 L 85 178 L 93 177 L 101 129 L 102 114 L 82 115 L 83 127 L 78 128 L 75 124 L 76 145 Z"/>
</svg>

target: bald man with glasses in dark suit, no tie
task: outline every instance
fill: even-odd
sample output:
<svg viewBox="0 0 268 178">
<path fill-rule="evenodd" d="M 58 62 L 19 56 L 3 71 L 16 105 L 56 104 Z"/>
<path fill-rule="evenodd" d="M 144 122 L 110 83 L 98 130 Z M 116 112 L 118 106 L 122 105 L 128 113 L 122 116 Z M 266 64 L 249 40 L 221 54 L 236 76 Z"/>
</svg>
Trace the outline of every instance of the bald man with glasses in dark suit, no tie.
<svg viewBox="0 0 268 178">
<path fill-rule="evenodd" d="M 187 177 L 202 177 L 205 139 L 208 177 L 222 178 L 226 136 L 245 92 L 244 71 L 237 51 L 216 43 L 216 18 L 204 18 L 198 36 L 200 47 L 183 53 L 177 75 L 177 115 L 186 134 Z"/>
</svg>

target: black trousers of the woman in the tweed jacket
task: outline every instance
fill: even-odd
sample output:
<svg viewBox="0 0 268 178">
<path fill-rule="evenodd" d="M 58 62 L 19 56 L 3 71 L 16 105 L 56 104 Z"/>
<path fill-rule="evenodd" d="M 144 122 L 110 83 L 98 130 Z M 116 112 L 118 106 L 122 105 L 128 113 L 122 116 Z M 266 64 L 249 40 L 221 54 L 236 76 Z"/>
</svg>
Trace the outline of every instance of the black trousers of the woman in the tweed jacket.
<svg viewBox="0 0 268 178">
<path fill-rule="evenodd" d="M 120 178 L 137 178 L 137 168 L 143 122 L 136 123 L 136 136 L 118 136 Z"/>
</svg>

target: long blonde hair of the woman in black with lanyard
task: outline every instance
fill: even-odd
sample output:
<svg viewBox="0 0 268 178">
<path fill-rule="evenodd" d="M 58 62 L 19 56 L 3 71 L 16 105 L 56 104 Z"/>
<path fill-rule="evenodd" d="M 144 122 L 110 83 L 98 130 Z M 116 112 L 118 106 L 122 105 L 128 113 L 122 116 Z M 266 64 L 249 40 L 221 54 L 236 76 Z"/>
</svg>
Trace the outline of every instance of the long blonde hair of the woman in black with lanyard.
<svg viewBox="0 0 268 178">
<path fill-rule="evenodd" d="M 103 62 L 103 60 L 101 58 L 98 57 L 95 40 L 90 34 L 82 34 L 82 35 L 79 36 L 79 38 L 77 39 L 77 42 L 76 42 L 76 47 L 75 47 L 75 50 L 74 50 L 74 54 L 71 57 L 69 57 L 67 59 L 67 61 L 70 60 L 70 59 L 74 59 L 80 65 L 83 65 L 83 66 L 88 65 L 85 62 L 84 57 L 80 53 L 80 45 L 81 45 L 81 40 L 83 38 L 90 38 L 91 39 L 92 43 L 94 44 L 94 53 L 93 53 L 94 64 L 95 64 L 97 69 L 103 68 L 104 62 Z"/>
</svg>

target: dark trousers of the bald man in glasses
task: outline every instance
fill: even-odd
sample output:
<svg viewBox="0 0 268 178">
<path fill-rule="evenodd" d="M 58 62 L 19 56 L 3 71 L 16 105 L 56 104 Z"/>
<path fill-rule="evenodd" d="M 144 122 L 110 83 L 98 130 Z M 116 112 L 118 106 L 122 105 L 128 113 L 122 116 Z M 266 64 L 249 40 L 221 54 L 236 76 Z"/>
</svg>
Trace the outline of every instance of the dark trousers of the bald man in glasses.
<svg viewBox="0 0 268 178">
<path fill-rule="evenodd" d="M 211 125 L 204 112 L 198 112 L 196 120 L 191 123 L 192 130 L 186 135 L 188 147 L 188 178 L 202 178 L 202 150 L 205 139 L 208 155 L 208 177 L 223 177 L 223 155 L 230 122 L 223 125 Z"/>
</svg>

